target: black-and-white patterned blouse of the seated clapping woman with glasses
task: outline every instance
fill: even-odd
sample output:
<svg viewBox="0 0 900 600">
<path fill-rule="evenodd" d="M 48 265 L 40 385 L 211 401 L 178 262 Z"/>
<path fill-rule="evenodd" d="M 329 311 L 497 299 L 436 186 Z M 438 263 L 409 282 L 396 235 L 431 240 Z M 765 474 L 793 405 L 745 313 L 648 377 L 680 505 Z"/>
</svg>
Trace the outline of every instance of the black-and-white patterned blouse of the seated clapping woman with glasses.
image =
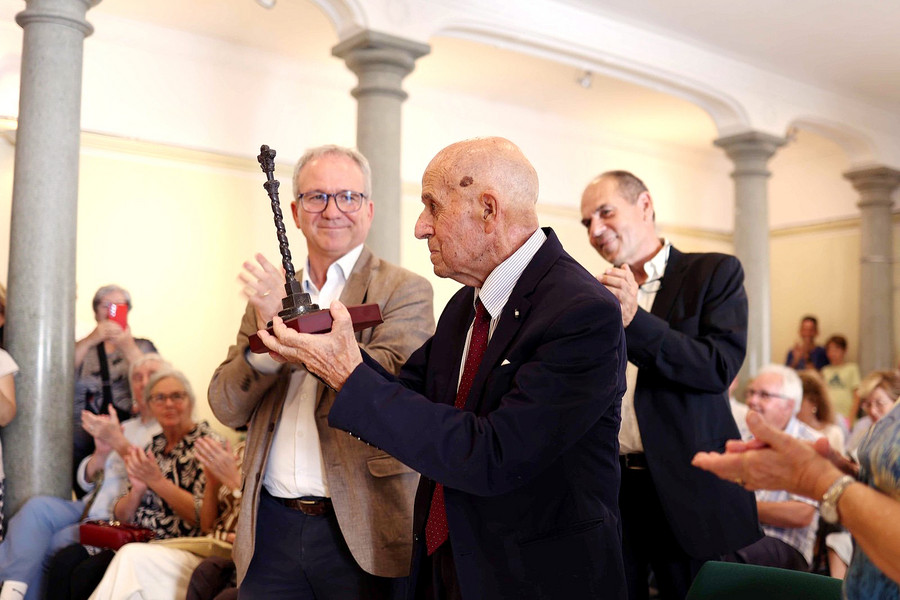
<svg viewBox="0 0 900 600">
<path fill-rule="evenodd" d="M 148 446 L 163 475 L 194 497 L 196 526 L 191 527 L 156 492 L 147 490 L 134 513 L 133 522 L 152 529 L 156 532 L 157 539 L 200 535 L 200 506 L 206 475 L 194 456 L 194 443 L 203 436 L 222 441 L 206 421 L 201 421 L 169 453 L 165 452 L 166 436 L 162 433 L 154 436 Z"/>
</svg>

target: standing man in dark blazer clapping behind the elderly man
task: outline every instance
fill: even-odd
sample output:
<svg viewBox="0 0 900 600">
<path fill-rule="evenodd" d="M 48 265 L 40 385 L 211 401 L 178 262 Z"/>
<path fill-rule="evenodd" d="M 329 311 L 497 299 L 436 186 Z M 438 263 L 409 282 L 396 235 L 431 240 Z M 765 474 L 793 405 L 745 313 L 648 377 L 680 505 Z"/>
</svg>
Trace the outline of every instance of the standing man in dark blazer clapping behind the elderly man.
<svg viewBox="0 0 900 600">
<path fill-rule="evenodd" d="M 683 254 L 655 230 L 653 199 L 627 171 L 594 179 L 581 199 L 591 245 L 613 264 L 597 278 L 622 303 L 628 392 L 619 452 L 629 599 L 684 598 L 703 562 L 761 534 L 753 495 L 691 466 L 739 439 L 728 385 L 744 360 L 740 262 Z"/>
</svg>

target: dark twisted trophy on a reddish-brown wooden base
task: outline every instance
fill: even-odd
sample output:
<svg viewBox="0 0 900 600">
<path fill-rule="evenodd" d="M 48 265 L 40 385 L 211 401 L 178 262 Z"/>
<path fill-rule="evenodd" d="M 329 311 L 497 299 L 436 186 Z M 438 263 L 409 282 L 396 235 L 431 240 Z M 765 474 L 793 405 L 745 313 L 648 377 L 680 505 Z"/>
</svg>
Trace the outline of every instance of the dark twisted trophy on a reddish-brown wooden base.
<svg viewBox="0 0 900 600">
<path fill-rule="evenodd" d="M 282 309 L 278 312 L 278 316 L 284 320 L 287 327 L 300 333 L 326 333 L 331 331 L 331 312 L 326 309 L 319 308 L 318 304 L 313 304 L 309 294 L 306 294 L 300 288 L 300 282 L 297 281 L 294 265 L 291 262 L 291 250 L 288 247 L 287 234 L 284 230 L 284 217 L 281 213 L 281 203 L 278 200 L 278 180 L 275 179 L 275 150 L 268 146 L 260 147 L 259 166 L 266 174 L 266 182 L 263 187 L 269 193 L 269 199 L 272 202 L 272 212 L 275 214 L 275 229 L 278 232 L 278 249 L 281 252 L 281 265 L 284 267 L 285 273 L 285 298 L 281 300 Z M 381 308 L 377 304 L 360 304 L 359 306 L 348 306 L 350 318 L 353 320 L 354 331 L 361 331 L 374 327 L 383 322 L 381 318 Z M 272 322 L 267 324 L 267 331 L 272 333 Z M 262 343 L 257 334 L 250 336 L 250 351 L 256 354 L 265 354 L 269 351 Z"/>
</svg>

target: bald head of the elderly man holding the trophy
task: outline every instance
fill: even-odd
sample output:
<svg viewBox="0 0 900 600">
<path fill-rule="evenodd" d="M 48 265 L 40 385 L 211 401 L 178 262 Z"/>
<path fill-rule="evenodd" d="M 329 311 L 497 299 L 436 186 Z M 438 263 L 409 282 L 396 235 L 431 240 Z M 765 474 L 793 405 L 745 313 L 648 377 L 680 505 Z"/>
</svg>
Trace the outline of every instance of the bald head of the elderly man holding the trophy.
<svg viewBox="0 0 900 600">
<path fill-rule="evenodd" d="M 503 138 L 447 146 L 422 176 L 416 237 L 427 239 L 434 272 L 480 287 L 538 227 L 538 178 Z"/>
</svg>

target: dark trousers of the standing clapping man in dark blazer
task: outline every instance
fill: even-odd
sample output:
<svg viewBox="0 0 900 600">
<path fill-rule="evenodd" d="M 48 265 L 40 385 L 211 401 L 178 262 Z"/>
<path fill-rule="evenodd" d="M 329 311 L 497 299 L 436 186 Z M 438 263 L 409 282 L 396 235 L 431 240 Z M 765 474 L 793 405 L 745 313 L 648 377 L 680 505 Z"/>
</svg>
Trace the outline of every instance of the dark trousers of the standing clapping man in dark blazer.
<svg viewBox="0 0 900 600">
<path fill-rule="evenodd" d="M 622 467 L 619 490 L 622 515 L 622 555 L 629 600 L 646 600 L 650 595 L 650 569 L 656 575 L 663 600 L 683 600 L 697 571 L 715 556 L 689 556 L 678 543 L 663 513 L 650 471 Z"/>
</svg>

